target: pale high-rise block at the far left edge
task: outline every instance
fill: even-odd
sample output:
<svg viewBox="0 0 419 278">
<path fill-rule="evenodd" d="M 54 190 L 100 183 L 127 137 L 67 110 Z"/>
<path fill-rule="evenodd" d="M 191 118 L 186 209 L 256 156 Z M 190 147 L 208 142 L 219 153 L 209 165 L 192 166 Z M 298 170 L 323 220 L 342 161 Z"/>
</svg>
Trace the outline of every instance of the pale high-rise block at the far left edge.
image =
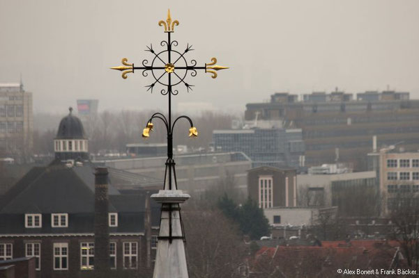
<svg viewBox="0 0 419 278">
<path fill-rule="evenodd" d="M 0 157 L 24 161 L 33 146 L 32 93 L 22 83 L 0 84 Z"/>
</svg>

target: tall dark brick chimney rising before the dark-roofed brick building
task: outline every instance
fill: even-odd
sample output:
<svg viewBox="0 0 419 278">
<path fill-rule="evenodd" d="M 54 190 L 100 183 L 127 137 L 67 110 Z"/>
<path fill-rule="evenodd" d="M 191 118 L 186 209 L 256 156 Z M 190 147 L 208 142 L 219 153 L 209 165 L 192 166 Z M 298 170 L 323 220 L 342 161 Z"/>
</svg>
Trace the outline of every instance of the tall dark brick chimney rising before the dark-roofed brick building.
<svg viewBox="0 0 419 278">
<path fill-rule="evenodd" d="M 107 167 L 95 170 L 95 278 L 109 277 Z"/>
</svg>

